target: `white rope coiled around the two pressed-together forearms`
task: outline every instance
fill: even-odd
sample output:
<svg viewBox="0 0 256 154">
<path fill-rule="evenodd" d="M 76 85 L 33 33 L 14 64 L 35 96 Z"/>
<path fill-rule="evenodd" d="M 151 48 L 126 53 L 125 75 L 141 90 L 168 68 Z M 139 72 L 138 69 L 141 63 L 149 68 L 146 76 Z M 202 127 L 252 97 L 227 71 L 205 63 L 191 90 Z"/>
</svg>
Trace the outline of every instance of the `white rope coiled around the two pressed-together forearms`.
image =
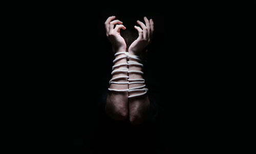
<svg viewBox="0 0 256 154">
<path fill-rule="evenodd" d="M 141 59 L 139 58 L 139 56 L 135 56 L 135 55 L 129 55 L 128 52 L 118 52 L 116 53 L 114 56 L 120 55 L 120 54 L 124 54 L 123 56 L 120 56 L 118 58 L 115 58 L 115 60 L 113 60 L 113 63 L 115 63 L 117 60 L 120 60 L 122 58 L 132 58 L 132 59 L 136 59 L 141 61 Z M 117 72 L 127 72 L 127 73 L 139 73 L 139 74 L 143 74 L 142 71 L 129 71 L 129 69 L 116 69 L 117 67 L 120 67 L 122 65 L 139 65 L 141 67 L 143 67 L 143 64 L 136 62 L 136 61 L 127 61 L 127 63 L 120 63 L 120 64 L 116 64 L 112 67 L 112 73 L 111 75 L 113 75 L 114 73 Z M 127 82 L 117 82 L 116 80 L 121 79 L 121 78 L 128 78 Z M 119 77 L 115 77 L 113 79 L 111 79 L 109 81 L 109 83 L 114 83 L 114 84 L 136 84 L 136 83 L 145 83 L 144 79 L 129 79 L 129 76 L 119 76 Z M 142 85 L 142 86 L 136 86 L 136 87 L 132 87 L 130 89 L 126 89 L 126 90 L 116 90 L 116 89 L 110 89 L 109 91 L 116 91 L 116 92 L 135 92 L 135 91 L 144 91 L 144 93 L 141 94 L 136 94 L 136 95 L 132 95 L 132 96 L 128 96 L 128 98 L 132 98 L 132 97 L 137 97 L 137 96 L 141 96 L 147 93 L 148 89 L 144 88 L 146 85 Z"/>
</svg>

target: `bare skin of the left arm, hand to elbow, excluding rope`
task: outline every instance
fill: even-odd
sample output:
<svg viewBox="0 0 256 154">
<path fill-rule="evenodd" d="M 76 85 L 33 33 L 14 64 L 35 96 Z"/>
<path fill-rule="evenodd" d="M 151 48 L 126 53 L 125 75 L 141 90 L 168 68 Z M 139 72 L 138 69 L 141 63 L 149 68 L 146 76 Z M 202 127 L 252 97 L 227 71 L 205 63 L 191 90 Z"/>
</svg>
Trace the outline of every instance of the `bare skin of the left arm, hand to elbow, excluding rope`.
<svg viewBox="0 0 256 154">
<path fill-rule="evenodd" d="M 117 52 L 125 52 L 126 44 L 124 39 L 120 35 L 120 29 L 125 29 L 125 27 L 123 25 L 116 25 L 116 27 L 114 28 L 115 24 L 122 24 L 121 21 L 114 19 L 115 16 L 111 16 L 105 21 L 105 29 L 106 36 L 112 43 L 113 52 L 115 54 Z M 117 55 L 115 58 L 121 56 L 122 55 Z M 121 58 L 120 60 L 115 61 L 114 65 L 120 63 L 127 63 L 126 58 Z M 121 65 L 120 67 L 116 67 L 114 68 L 114 71 L 117 69 L 127 69 L 127 65 Z M 120 76 L 127 76 L 127 72 L 113 73 L 112 79 Z M 127 78 L 120 78 L 115 81 L 127 82 Z M 128 89 L 128 85 L 111 83 L 110 89 L 124 90 Z M 115 120 L 126 119 L 128 115 L 128 92 L 109 91 L 108 97 L 106 99 L 105 111 L 106 114 L 108 114 L 111 118 Z"/>
</svg>

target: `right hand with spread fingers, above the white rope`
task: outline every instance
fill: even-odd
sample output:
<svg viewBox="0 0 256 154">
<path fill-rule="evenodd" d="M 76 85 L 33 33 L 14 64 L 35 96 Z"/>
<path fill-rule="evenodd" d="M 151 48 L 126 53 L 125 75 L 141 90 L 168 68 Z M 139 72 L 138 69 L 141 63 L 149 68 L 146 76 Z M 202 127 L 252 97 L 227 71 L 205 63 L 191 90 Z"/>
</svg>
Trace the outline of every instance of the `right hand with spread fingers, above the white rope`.
<svg viewBox="0 0 256 154">
<path fill-rule="evenodd" d="M 131 55 L 140 55 L 143 49 L 152 41 L 154 22 L 152 19 L 148 21 L 146 17 L 144 17 L 144 20 L 146 25 L 137 20 L 137 23 L 141 26 L 142 29 L 138 26 L 134 26 L 134 28 L 139 32 L 139 37 L 129 47 L 128 51 Z"/>
</svg>

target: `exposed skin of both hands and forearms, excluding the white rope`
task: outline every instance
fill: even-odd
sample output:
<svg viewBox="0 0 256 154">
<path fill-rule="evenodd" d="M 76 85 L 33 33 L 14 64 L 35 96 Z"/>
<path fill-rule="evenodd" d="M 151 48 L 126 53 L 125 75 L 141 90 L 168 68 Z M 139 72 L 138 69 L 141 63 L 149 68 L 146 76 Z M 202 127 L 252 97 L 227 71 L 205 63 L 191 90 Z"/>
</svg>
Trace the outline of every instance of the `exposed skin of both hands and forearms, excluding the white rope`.
<svg viewBox="0 0 256 154">
<path fill-rule="evenodd" d="M 105 29 L 106 29 L 106 36 L 112 43 L 113 53 L 117 52 L 125 52 L 126 51 L 126 44 L 122 36 L 120 35 L 120 29 L 125 30 L 126 28 L 119 20 L 114 20 L 115 16 L 109 17 L 105 21 Z M 141 21 L 137 21 L 137 23 L 141 26 L 135 26 L 135 29 L 139 33 L 139 37 L 131 44 L 129 47 L 129 54 L 130 55 L 140 55 L 143 52 L 143 49 L 151 42 L 154 32 L 154 23 L 153 20 L 148 20 L 146 17 L 144 17 L 145 24 L 143 24 Z M 116 25 L 118 24 L 118 25 Z M 114 26 L 116 27 L 114 28 Z M 118 55 L 116 58 L 123 56 Z M 137 61 L 135 59 L 129 59 L 130 61 Z M 126 58 L 122 58 L 114 63 L 114 65 L 119 63 L 126 63 Z M 127 69 L 126 65 L 122 65 L 120 67 L 115 68 L 116 69 Z M 141 67 L 138 67 L 137 65 L 129 65 L 129 70 L 136 70 L 136 71 L 142 71 Z M 118 77 L 118 76 L 129 76 L 130 79 L 142 79 L 141 74 L 137 73 L 129 73 L 126 72 L 120 72 L 113 74 L 112 78 Z M 118 82 L 126 82 L 127 79 L 119 79 Z M 117 89 L 117 90 L 123 90 L 128 89 L 135 86 L 143 85 L 143 83 L 138 84 L 114 84 L 112 83 L 110 85 L 110 89 Z M 108 94 L 108 97 L 106 99 L 106 106 L 105 111 L 106 114 L 108 114 L 111 118 L 115 120 L 125 120 L 129 117 L 129 120 L 132 124 L 140 124 L 142 123 L 146 117 L 148 108 L 150 106 L 150 100 L 148 99 L 147 95 L 138 96 L 134 98 L 129 98 L 129 95 L 135 95 L 140 94 L 143 92 L 115 92 L 110 91 Z"/>
</svg>

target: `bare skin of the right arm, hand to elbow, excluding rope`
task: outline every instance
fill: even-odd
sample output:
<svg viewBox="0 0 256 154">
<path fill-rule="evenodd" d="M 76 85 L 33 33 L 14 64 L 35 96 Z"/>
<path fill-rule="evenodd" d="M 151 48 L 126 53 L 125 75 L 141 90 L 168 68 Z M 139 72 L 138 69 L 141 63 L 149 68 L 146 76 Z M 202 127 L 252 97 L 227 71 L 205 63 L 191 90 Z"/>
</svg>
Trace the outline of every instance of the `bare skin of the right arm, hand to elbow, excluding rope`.
<svg viewBox="0 0 256 154">
<path fill-rule="evenodd" d="M 144 25 L 141 21 L 137 21 L 137 23 L 141 26 L 135 26 L 135 29 L 138 30 L 139 37 L 132 43 L 129 48 L 130 55 L 140 55 L 143 49 L 151 42 L 153 32 L 154 32 L 154 23 L 153 20 L 148 20 L 144 17 L 145 24 Z M 130 61 L 140 62 L 136 59 L 129 59 Z M 138 65 L 129 65 L 129 71 L 142 71 L 142 68 Z M 143 79 L 142 74 L 140 73 L 129 73 L 129 79 Z M 129 84 L 129 89 L 136 86 L 142 86 L 144 83 L 136 83 L 136 84 Z M 143 92 L 136 91 L 130 92 L 129 96 L 141 94 Z M 129 119 L 132 124 L 140 124 L 147 118 L 148 108 L 150 107 L 150 100 L 148 99 L 147 95 L 142 95 L 138 97 L 129 98 Z"/>
</svg>

